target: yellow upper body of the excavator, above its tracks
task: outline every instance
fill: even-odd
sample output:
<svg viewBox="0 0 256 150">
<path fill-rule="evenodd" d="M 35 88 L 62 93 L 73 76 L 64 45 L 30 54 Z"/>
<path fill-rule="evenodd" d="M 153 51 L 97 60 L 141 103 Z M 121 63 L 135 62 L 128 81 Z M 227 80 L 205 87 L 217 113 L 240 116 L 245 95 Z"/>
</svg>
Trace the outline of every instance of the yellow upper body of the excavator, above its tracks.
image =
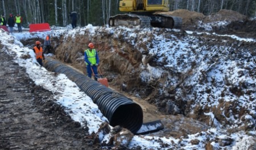
<svg viewBox="0 0 256 150">
<path fill-rule="evenodd" d="M 169 11 L 169 3 L 167 0 L 121 0 L 119 11 Z"/>
</svg>

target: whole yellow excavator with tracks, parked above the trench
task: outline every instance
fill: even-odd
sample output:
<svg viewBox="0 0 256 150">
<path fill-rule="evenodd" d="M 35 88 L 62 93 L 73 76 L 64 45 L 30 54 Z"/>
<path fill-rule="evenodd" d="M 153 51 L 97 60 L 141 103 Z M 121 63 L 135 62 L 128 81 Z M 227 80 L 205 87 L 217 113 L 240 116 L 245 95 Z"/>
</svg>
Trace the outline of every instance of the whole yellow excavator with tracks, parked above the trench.
<svg viewBox="0 0 256 150">
<path fill-rule="evenodd" d="M 121 0 L 119 11 L 128 13 L 110 16 L 109 25 L 181 28 L 182 18 L 157 13 L 168 12 L 169 7 L 168 0 Z"/>
</svg>

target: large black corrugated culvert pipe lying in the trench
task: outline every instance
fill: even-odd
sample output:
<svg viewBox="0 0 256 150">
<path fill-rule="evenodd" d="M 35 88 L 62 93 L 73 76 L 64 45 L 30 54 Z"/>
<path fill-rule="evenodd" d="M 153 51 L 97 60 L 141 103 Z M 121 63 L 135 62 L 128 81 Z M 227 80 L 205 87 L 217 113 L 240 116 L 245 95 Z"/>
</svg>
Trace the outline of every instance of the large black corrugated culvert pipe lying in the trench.
<svg viewBox="0 0 256 150">
<path fill-rule="evenodd" d="M 114 92 L 112 89 L 52 58 L 46 57 L 44 67 L 48 71 L 65 74 L 72 82 L 75 82 L 98 105 L 101 113 L 108 118 L 111 126 L 125 127 L 134 134 L 141 128 L 143 123 L 142 108 L 130 98 Z"/>
</svg>

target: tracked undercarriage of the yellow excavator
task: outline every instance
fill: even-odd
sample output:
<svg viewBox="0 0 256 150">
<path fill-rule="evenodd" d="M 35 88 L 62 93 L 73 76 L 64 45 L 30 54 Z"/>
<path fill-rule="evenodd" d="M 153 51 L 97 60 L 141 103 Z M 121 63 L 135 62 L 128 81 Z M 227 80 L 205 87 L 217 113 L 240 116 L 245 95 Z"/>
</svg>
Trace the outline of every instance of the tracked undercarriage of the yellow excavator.
<svg viewBox="0 0 256 150">
<path fill-rule="evenodd" d="M 109 18 L 110 27 L 159 27 L 159 28 L 181 28 L 182 19 L 177 16 L 164 14 L 137 15 L 137 14 L 118 14 Z"/>
</svg>

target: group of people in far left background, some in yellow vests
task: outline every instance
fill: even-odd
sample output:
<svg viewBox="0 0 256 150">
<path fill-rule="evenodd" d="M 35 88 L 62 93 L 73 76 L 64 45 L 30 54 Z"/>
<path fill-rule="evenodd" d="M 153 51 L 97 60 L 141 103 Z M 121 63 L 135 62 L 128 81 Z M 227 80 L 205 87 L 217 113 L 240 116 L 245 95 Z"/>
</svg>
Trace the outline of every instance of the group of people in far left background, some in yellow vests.
<svg viewBox="0 0 256 150">
<path fill-rule="evenodd" d="M 7 20 L 7 22 L 6 22 L 6 19 L 5 19 L 5 15 L 1 15 L 0 22 L 1 22 L 1 25 L 8 24 L 10 33 L 13 33 L 13 27 L 14 27 L 15 23 L 18 26 L 18 31 L 22 32 L 22 25 L 21 25 L 22 24 L 22 17 L 19 14 L 16 14 L 15 17 L 13 16 L 13 14 L 10 14 L 10 17 Z"/>
</svg>

